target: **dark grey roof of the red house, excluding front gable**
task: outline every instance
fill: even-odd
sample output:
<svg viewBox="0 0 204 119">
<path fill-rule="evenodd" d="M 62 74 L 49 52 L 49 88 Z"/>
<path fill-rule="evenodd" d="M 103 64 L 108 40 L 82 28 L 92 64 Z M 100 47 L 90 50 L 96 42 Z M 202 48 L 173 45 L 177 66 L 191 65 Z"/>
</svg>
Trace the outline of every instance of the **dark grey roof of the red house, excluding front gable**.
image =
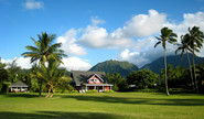
<svg viewBox="0 0 204 119">
<path fill-rule="evenodd" d="M 71 76 L 76 86 L 87 85 L 87 79 L 93 75 L 99 76 L 104 82 L 97 84 L 97 86 L 111 85 L 105 72 L 83 72 L 83 71 L 72 71 Z"/>
</svg>

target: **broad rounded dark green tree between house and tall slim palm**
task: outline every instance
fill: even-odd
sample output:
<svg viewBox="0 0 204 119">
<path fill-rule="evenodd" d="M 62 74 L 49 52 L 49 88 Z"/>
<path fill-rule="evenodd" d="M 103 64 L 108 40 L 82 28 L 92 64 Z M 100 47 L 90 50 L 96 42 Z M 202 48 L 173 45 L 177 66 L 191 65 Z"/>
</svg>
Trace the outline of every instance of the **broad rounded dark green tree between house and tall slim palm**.
<svg viewBox="0 0 204 119">
<path fill-rule="evenodd" d="M 140 69 L 138 72 L 133 71 L 127 76 L 127 82 L 129 85 L 136 85 L 138 88 L 148 88 L 159 80 L 159 76 L 152 71 Z"/>
</svg>

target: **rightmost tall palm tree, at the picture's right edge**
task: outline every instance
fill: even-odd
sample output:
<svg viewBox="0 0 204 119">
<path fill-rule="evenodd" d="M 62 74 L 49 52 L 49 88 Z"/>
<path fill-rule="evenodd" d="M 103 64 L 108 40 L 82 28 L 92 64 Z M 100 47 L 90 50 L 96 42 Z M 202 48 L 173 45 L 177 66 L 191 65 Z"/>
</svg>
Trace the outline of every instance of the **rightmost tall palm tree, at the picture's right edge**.
<svg viewBox="0 0 204 119">
<path fill-rule="evenodd" d="M 198 26 L 193 26 L 192 29 L 189 28 L 187 34 L 190 36 L 190 42 L 187 43 L 187 45 L 193 50 L 193 54 L 195 54 L 195 52 L 200 52 L 200 48 L 203 47 L 202 43 L 204 42 L 203 32 L 200 31 Z M 200 93 L 197 87 L 197 80 L 196 80 L 194 55 L 193 55 L 193 67 L 194 67 L 195 87 L 197 93 Z"/>
</svg>

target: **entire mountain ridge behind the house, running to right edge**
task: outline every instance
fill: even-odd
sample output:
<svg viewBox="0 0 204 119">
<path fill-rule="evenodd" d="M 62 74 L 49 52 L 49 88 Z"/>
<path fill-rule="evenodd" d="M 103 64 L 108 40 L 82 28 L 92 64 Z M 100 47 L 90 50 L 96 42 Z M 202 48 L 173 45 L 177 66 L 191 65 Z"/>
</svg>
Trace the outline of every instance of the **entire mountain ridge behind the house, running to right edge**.
<svg viewBox="0 0 204 119">
<path fill-rule="evenodd" d="M 150 64 L 146 64 L 141 68 L 138 68 L 137 65 L 131 64 L 129 62 L 120 62 L 120 61 L 106 61 L 103 63 L 98 63 L 97 65 L 93 66 L 89 71 L 93 72 L 105 72 L 105 73 L 119 73 L 122 77 L 126 77 L 132 71 L 139 69 L 151 69 L 153 73 L 160 74 L 160 69 L 164 68 L 164 57 L 159 57 L 158 60 L 153 61 Z M 190 54 L 191 64 L 193 64 L 193 55 Z M 189 68 L 189 62 L 186 54 L 183 55 L 183 60 L 181 60 L 181 55 L 171 55 L 167 56 L 168 64 L 176 66 L 183 66 L 184 68 Z M 195 56 L 195 64 L 204 63 L 204 57 Z"/>
</svg>

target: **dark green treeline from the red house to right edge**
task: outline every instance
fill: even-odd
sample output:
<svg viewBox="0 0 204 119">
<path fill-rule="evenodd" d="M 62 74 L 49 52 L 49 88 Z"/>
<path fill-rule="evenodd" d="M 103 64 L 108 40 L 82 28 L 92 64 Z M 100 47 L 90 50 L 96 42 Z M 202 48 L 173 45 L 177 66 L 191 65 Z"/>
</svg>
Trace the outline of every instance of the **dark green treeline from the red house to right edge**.
<svg viewBox="0 0 204 119">
<path fill-rule="evenodd" d="M 191 67 L 193 69 L 193 67 Z M 183 66 L 174 67 L 168 65 L 168 84 L 170 91 L 196 93 L 193 88 L 189 68 Z M 116 91 L 165 91 L 165 72 L 161 75 L 147 69 L 132 71 L 127 77 L 119 73 L 107 74 L 112 89 Z M 204 64 L 196 65 L 197 86 L 204 93 Z"/>
</svg>

